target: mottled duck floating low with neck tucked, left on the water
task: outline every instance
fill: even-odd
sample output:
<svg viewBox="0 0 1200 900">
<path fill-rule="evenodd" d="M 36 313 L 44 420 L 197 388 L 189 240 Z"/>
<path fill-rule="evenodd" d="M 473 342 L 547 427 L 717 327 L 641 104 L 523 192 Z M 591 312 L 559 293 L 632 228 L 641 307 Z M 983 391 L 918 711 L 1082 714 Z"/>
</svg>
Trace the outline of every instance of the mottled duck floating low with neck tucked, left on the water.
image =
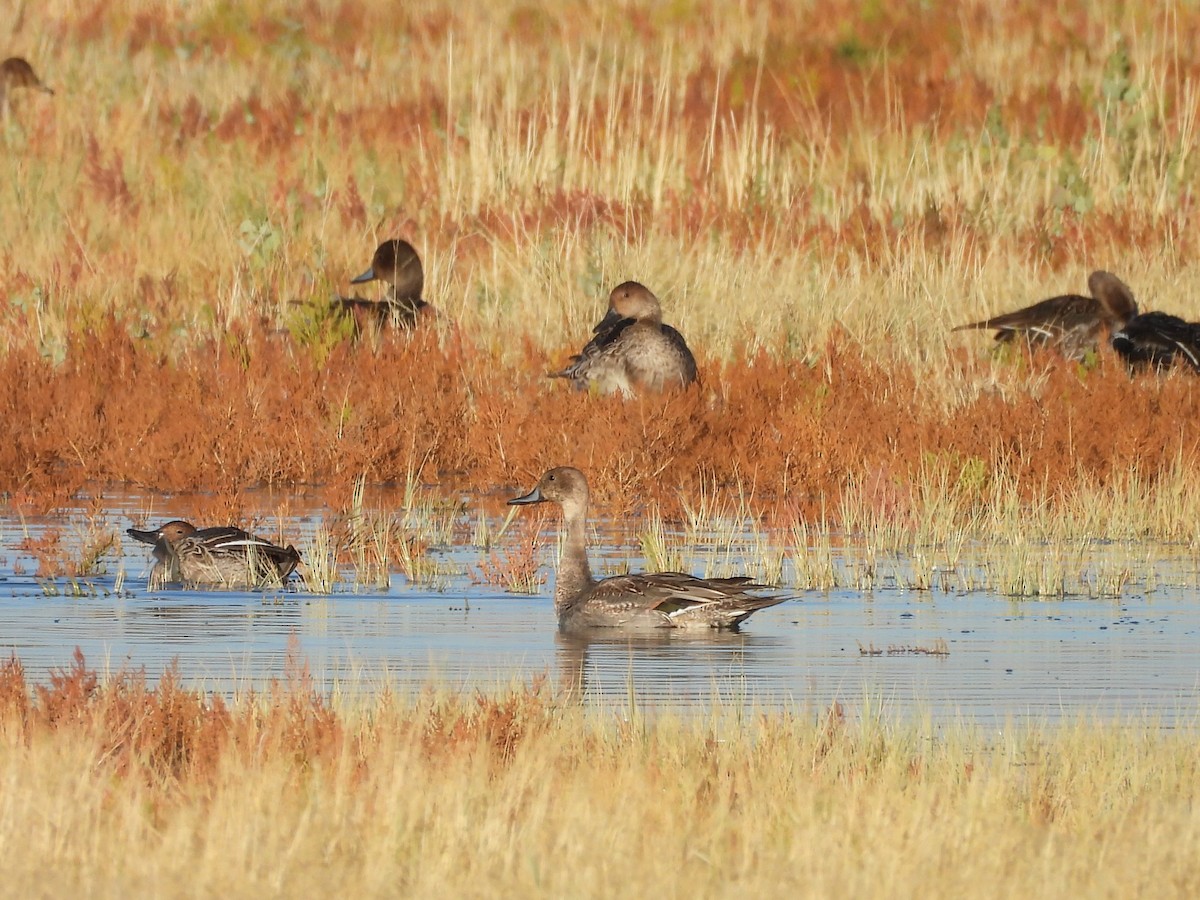
<svg viewBox="0 0 1200 900">
<path fill-rule="evenodd" d="M 151 530 L 130 528 L 126 534 L 154 545 L 151 589 L 179 581 L 227 588 L 282 583 L 300 563 L 292 545 L 278 547 L 232 526 L 197 528 L 176 518 Z"/>
</svg>

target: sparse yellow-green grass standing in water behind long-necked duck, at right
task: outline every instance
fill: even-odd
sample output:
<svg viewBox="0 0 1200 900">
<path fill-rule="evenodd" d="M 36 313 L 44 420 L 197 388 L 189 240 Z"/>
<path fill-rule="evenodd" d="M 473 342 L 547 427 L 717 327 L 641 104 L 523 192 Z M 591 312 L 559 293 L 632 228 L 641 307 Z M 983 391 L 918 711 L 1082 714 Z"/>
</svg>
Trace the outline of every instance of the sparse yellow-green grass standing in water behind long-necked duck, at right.
<svg viewBox="0 0 1200 900">
<path fill-rule="evenodd" d="M 736 485 L 696 504 L 680 498 L 678 518 L 652 504 L 622 528 L 601 514 L 593 542 L 630 541 L 641 552 L 637 565 L 650 571 L 750 575 L 803 590 L 1118 599 L 1200 587 L 1200 504 L 1187 466 L 1162 474 L 1153 492 L 1136 468 L 1105 485 L 1040 493 L 1004 467 L 968 468 L 964 479 L 958 462 L 929 462 L 923 480 L 882 498 L 877 487 L 854 486 L 836 516 L 816 524 L 779 511 L 756 516 Z"/>
</svg>

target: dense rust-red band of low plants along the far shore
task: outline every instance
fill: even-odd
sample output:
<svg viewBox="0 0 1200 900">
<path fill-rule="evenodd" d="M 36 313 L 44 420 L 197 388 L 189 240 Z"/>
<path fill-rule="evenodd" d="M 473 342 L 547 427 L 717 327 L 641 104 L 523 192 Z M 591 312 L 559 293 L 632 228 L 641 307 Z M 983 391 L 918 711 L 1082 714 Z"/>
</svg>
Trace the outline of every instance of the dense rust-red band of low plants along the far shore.
<svg viewBox="0 0 1200 900">
<path fill-rule="evenodd" d="M 346 342 L 318 365 L 286 335 L 236 330 L 168 356 L 109 322 L 61 365 L 32 348 L 0 361 L 0 488 L 62 497 L 128 482 L 211 491 L 234 509 L 248 488 L 342 493 L 358 475 L 486 494 L 570 463 L 617 506 L 739 485 L 811 517 L 835 509 L 850 479 L 904 482 L 930 456 L 1054 491 L 1132 467 L 1152 479 L 1200 442 L 1194 378 L 1130 378 L 1106 354 L 1091 371 L 1021 356 L 995 390 L 954 403 L 943 391 L 983 378 L 966 352 L 959 373 L 932 377 L 838 335 L 815 365 L 701 359 L 698 385 L 630 401 L 545 378 L 562 356 L 527 346 L 502 366 L 464 337 L 425 331 Z"/>
</svg>

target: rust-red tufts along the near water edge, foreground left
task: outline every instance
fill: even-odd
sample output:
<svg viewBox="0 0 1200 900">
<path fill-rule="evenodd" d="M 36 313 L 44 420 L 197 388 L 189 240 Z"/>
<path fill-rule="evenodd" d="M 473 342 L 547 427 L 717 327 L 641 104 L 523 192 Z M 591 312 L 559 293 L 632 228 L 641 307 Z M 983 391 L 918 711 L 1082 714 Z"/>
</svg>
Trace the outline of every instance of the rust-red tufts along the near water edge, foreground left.
<svg viewBox="0 0 1200 900">
<path fill-rule="evenodd" d="M 265 702 L 236 704 L 181 684 L 176 665 L 156 684 L 144 670 L 101 679 L 77 648 L 70 666 L 30 685 L 16 656 L 0 664 L 0 733 L 25 745 L 62 738 L 94 748 L 97 770 L 161 786 L 204 784 L 222 761 L 284 763 L 296 774 L 314 764 L 348 763 L 362 773 L 386 734 L 415 738 L 437 762 L 482 750 L 504 763 L 518 744 L 550 724 L 554 698 L 545 677 L 499 698 L 427 695 L 400 708 L 382 697 L 370 722 L 349 727 L 313 685 L 293 638 L 282 679 Z"/>
</svg>

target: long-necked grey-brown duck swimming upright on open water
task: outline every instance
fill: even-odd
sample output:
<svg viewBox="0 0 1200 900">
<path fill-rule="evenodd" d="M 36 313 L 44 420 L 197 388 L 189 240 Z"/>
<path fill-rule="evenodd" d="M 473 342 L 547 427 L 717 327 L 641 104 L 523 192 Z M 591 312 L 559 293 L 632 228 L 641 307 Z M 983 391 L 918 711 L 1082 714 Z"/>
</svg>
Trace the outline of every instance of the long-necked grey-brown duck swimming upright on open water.
<svg viewBox="0 0 1200 900">
<path fill-rule="evenodd" d="M 552 468 L 529 493 L 509 500 L 515 506 L 534 503 L 556 503 L 563 510 L 566 538 L 554 583 L 554 613 L 563 631 L 737 629 L 758 610 L 790 599 L 750 593 L 769 588 L 746 577 L 653 572 L 596 581 L 588 565 L 588 480 L 583 473 L 570 466 Z"/>
</svg>

